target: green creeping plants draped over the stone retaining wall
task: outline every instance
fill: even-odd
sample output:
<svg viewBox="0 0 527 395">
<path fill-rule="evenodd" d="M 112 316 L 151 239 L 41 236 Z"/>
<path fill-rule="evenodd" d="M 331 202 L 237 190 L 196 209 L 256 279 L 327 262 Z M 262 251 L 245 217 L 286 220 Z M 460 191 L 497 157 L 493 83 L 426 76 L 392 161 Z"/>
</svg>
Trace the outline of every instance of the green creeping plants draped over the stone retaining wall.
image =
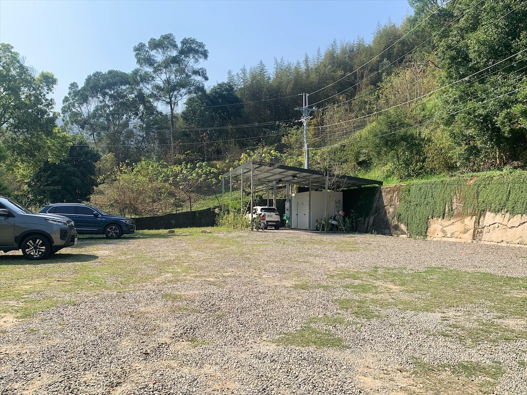
<svg viewBox="0 0 527 395">
<path fill-rule="evenodd" d="M 480 216 L 485 212 L 527 215 L 527 171 L 483 174 L 470 179 L 444 180 L 405 185 L 395 215 L 412 237 L 426 237 L 428 220 L 444 219 L 453 213 L 454 196 L 463 202 L 462 213 Z"/>
</svg>

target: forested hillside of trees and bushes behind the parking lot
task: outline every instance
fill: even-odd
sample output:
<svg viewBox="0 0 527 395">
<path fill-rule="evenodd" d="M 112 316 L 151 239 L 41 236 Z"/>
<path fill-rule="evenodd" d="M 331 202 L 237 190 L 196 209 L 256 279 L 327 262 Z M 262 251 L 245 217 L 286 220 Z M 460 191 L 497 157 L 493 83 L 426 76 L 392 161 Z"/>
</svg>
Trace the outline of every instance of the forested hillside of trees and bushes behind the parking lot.
<svg viewBox="0 0 527 395">
<path fill-rule="evenodd" d="M 53 74 L 2 43 L 0 193 L 35 206 L 92 197 L 131 215 L 192 209 L 251 158 L 303 166 L 301 93 L 317 108 L 315 170 L 401 182 L 526 169 L 527 3 L 409 4 L 414 14 L 370 43 L 260 62 L 209 89 L 207 43 L 154 37 L 131 48 L 131 73 L 71 83 L 60 114 Z"/>
</svg>

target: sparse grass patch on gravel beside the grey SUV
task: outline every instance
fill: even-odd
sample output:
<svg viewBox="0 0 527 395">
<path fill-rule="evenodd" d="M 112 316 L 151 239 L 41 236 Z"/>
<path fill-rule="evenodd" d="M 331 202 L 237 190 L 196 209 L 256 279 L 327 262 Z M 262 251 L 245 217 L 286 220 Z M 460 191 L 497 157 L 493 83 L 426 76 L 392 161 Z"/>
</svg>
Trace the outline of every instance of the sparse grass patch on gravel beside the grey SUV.
<svg viewBox="0 0 527 395">
<path fill-rule="evenodd" d="M 140 231 L 133 238 L 119 240 L 83 238 L 77 246 L 37 262 L 3 255 L 0 317 L 30 317 L 56 305 L 72 303 L 79 293 L 127 292 L 154 281 L 188 278 L 194 272 L 193 266 L 187 264 L 192 248 L 179 241 L 170 248 L 166 242 L 158 244 L 152 240 L 165 238 L 165 232 Z M 199 237 L 198 231 L 190 233 Z M 142 238 L 143 235 L 147 237 Z"/>
</svg>

